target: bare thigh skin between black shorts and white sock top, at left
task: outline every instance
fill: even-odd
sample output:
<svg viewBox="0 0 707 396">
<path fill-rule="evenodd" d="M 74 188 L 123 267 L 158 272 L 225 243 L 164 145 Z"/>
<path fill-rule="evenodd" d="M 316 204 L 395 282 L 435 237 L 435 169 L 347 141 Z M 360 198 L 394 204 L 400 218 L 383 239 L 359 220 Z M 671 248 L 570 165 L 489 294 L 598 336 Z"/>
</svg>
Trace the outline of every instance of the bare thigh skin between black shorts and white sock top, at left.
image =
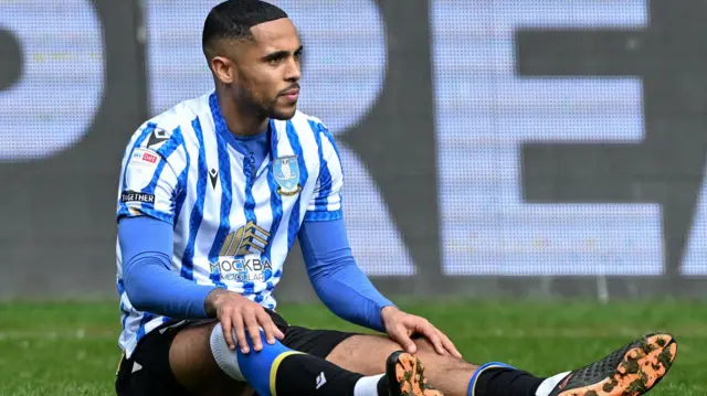
<svg viewBox="0 0 707 396">
<path fill-rule="evenodd" d="M 210 338 L 217 321 L 193 324 L 179 331 L 169 350 L 169 365 L 175 378 L 190 394 L 198 396 L 252 395 L 245 383 L 229 377 L 211 353 Z"/>
</svg>

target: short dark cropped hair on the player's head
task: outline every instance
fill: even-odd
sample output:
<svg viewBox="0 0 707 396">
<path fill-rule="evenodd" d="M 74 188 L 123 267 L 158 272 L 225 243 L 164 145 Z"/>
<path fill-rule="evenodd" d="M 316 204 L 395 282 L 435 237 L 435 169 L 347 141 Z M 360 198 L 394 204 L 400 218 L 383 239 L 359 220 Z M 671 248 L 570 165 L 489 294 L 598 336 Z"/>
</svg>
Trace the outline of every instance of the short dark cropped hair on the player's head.
<svg viewBox="0 0 707 396">
<path fill-rule="evenodd" d="M 264 22 L 287 18 L 277 6 L 261 0 L 226 0 L 211 9 L 203 26 L 201 45 L 209 56 L 210 46 L 218 39 L 252 39 L 251 28 Z"/>
</svg>

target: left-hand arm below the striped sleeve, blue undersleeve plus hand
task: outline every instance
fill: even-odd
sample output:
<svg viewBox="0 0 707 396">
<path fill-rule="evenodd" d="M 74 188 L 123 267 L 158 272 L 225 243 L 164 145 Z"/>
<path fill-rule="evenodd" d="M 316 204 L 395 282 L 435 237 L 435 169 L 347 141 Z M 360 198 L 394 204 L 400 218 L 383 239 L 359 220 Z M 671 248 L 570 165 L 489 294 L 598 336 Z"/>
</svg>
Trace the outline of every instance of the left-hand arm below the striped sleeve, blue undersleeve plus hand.
<svg viewBox="0 0 707 396">
<path fill-rule="evenodd" d="M 124 257 L 123 282 L 136 309 L 173 319 L 219 318 L 224 334 L 232 334 L 233 329 L 243 353 L 250 350 L 246 331 L 255 350 L 262 350 L 260 332 L 253 333 L 258 325 L 270 344 L 284 338 L 260 304 L 215 286 L 198 285 L 170 270 L 173 239 L 170 223 L 149 216 L 123 218 L 118 238 Z M 225 341 L 231 350 L 235 349 L 233 338 Z"/>
</svg>

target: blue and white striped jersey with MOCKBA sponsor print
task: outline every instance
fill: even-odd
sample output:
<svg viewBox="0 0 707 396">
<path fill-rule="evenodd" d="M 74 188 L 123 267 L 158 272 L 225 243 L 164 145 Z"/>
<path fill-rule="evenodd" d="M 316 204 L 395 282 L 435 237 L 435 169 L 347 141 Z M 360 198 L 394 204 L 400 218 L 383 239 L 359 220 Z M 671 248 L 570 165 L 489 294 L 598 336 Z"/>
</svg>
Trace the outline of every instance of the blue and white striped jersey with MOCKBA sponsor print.
<svg viewBox="0 0 707 396">
<path fill-rule="evenodd" d="M 270 153 L 258 169 L 231 143 L 215 94 L 183 101 L 143 125 L 125 151 L 117 216 L 147 215 L 175 229 L 171 270 L 275 308 L 272 291 L 304 220 L 342 216 L 342 173 L 331 135 L 299 111 L 271 120 Z M 123 285 L 120 347 L 168 318 L 137 311 Z"/>
</svg>

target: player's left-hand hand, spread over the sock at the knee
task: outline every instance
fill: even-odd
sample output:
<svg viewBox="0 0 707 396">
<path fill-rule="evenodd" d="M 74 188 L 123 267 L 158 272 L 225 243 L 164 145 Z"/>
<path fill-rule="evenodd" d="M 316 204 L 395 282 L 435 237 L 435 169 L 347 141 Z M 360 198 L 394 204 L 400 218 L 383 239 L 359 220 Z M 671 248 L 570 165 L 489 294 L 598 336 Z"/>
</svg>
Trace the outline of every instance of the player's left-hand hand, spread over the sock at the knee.
<svg viewBox="0 0 707 396">
<path fill-rule="evenodd" d="M 253 341 L 253 349 L 262 351 L 260 328 L 263 328 L 265 339 L 271 345 L 275 343 L 275 339 L 285 338 L 285 334 L 277 329 L 273 319 L 261 304 L 236 292 L 215 289 L 207 297 L 205 308 L 209 317 L 215 317 L 221 322 L 223 338 L 231 351 L 235 351 L 238 342 L 241 352 L 250 352 L 251 349 L 245 339 L 246 331 Z M 233 332 L 235 332 L 236 341 L 233 340 Z"/>
</svg>

